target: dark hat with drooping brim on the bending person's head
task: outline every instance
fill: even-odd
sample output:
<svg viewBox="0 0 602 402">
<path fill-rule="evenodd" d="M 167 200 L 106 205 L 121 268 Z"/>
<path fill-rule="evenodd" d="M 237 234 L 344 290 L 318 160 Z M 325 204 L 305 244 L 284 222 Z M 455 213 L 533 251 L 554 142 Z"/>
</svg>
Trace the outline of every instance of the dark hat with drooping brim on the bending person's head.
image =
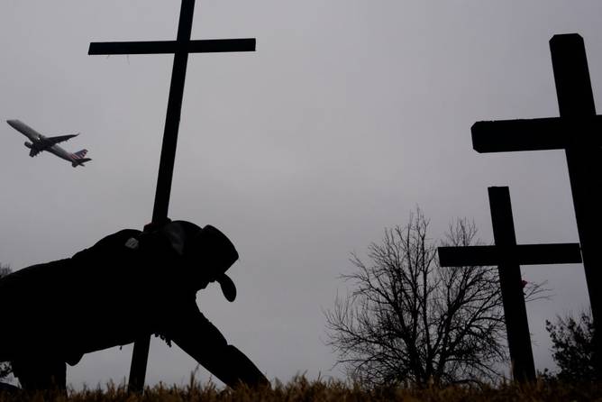
<svg viewBox="0 0 602 402">
<path fill-rule="evenodd" d="M 193 263 L 200 262 L 203 270 L 212 270 L 208 279 L 220 284 L 226 300 L 234 301 L 236 286 L 225 271 L 238 260 L 238 251 L 225 234 L 210 224 L 201 228 L 187 221 L 170 222 L 161 231 L 178 254 Z"/>
</svg>

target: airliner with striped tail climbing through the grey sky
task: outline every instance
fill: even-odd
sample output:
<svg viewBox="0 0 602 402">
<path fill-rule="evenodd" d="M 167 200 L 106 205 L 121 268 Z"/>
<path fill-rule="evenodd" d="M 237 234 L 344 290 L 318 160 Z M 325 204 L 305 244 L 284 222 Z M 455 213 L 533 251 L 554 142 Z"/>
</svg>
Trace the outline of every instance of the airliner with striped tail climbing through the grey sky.
<svg viewBox="0 0 602 402">
<path fill-rule="evenodd" d="M 68 139 L 77 137 L 77 134 L 70 135 L 59 135 L 58 137 L 45 137 L 40 132 L 36 132 L 29 125 L 23 123 L 20 120 L 6 120 L 11 127 L 16 131 L 21 132 L 25 137 L 29 138 L 31 142 L 25 142 L 25 146 L 30 149 L 29 156 L 34 157 L 41 151 L 49 151 L 54 153 L 61 159 L 68 160 L 71 162 L 71 166 L 74 168 L 78 166 L 85 166 L 84 162 L 91 160 L 90 158 L 84 158 L 87 154 L 87 150 L 81 150 L 74 153 L 63 150 L 59 147 L 59 142 L 65 142 Z"/>
</svg>

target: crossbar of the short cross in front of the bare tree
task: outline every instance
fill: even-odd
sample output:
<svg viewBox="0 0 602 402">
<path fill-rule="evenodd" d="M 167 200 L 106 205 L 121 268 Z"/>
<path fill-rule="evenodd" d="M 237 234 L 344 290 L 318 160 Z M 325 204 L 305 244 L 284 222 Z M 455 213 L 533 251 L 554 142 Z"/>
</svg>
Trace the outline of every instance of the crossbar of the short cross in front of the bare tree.
<svg viewBox="0 0 602 402">
<path fill-rule="evenodd" d="M 579 243 L 517 244 L 515 246 L 440 247 L 442 267 L 500 265 L 578 264 Z"/>
</svg>

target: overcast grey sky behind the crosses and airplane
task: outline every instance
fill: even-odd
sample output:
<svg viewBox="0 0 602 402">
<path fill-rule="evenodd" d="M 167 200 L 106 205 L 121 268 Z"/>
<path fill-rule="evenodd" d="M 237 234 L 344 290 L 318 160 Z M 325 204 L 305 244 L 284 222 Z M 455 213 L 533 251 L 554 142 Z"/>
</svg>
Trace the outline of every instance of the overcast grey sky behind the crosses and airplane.
<svg viewBox="0 0 602 402">
<path fill-rule="evenodd" d="M 65 258 L 150 221 L 172 57 L 87 48 L 173 40 L 178 12 L 177 0 L 0 4 L 0 117 L 82 132 L 65 148 L 93 159 L 29 158 L 25 137 L 0 125 L 0 262 Z M 556 33 L 583 36 L 599 105 L 600 26 L 602 4 L 585 0 L 197 1 L 194 39 L 257 38 L 255 53 L 188 62 L 169 215 L 214 224 L 241 254 L 236 302 L 210 288 L 202 311 L 270 379 L 341 377 L 324 344 L 323 311 L 346 291 L 337 277 L 415 206 L 433 239 L 466 216 L 489 242 L 487 187 L 509 186 L 518 242 L 576 242 L 563 152 L 479 155 L 470 126 L 558 115 Z M 588 306 L 583 270 L 523 275 L 552 288 L 528 306 L 536 366 L 552 368 L 544 320 Z M 129 346 L 87 355 L 68 379 L 120 382 L 130 357 Z M 195 367 L 151 343 L 150 383 L 184 383 Z"/>
</svg>

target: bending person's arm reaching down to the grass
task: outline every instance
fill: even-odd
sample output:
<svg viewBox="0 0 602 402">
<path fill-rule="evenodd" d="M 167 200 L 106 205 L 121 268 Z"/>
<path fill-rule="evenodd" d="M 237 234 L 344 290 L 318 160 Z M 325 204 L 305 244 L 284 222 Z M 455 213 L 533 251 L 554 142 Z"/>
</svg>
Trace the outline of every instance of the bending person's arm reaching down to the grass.
<svg viewBox="0 0 602 402">
<path fill-rule="evenodd" d="M 230 387 L 241 382 L 250 386 L 269 386 L 269 380 L 253 362 L 233 345 L 205 318 L 196 304 L 194 312 L 178 315 L 178 323 L 170 325 L 168 337 L 198 361 L 205 369 Z"/>
</svg>

